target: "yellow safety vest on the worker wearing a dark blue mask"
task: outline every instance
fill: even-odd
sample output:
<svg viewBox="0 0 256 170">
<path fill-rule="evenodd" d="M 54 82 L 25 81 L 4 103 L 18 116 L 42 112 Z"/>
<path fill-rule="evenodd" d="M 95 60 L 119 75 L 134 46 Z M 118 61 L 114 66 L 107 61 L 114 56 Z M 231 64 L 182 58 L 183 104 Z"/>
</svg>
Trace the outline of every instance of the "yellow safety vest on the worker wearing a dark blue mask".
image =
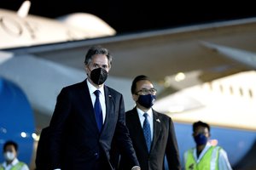
<svg viewBox="0 0 256 170">
<path fill-rule="evenodd" d="M 219 146 L 211 146 L 201 160 L 197 163 L 193 156 L 193 150 L 190 149 L 185 153 L 186 170 L 218 170 Z"/>
</svg>

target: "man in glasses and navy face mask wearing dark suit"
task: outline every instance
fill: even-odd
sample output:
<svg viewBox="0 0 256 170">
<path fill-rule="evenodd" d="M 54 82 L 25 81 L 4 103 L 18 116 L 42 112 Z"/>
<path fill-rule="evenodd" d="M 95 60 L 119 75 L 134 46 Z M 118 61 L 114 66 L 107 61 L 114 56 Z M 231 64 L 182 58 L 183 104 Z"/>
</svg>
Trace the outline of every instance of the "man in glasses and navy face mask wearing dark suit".
<svg viewBox="0 0 256 170">
<path fill-rule="evenodd" d="M 152 82 L 143 75 L 136 77 L 131 85 L 131 94 L 136 107 L 126 112 L 125 119 L 141 168 L 164 169 L 166 155 L 169 169 L 181 169 L 172 119 L 152 109 L 156 94 Z M 120 153 L 119 169 L 128 169 L 131 161 L 122 150 Z"/>
</svg>

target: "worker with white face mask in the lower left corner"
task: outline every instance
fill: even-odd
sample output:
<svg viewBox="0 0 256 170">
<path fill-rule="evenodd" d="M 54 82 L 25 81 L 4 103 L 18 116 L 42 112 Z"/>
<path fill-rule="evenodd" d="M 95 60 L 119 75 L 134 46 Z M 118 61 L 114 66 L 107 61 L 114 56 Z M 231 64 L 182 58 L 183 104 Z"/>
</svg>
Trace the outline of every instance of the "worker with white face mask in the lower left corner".
<svg viewBox="0 0 256 170">
<path fill-rule="evenodd" d="M 0 170 L 29 170 L 26 163 L 17 158 L 18 144 L 7 141 L 3 144 L 3 157 L 5 161 L 0 165 Z"/>
</svg>

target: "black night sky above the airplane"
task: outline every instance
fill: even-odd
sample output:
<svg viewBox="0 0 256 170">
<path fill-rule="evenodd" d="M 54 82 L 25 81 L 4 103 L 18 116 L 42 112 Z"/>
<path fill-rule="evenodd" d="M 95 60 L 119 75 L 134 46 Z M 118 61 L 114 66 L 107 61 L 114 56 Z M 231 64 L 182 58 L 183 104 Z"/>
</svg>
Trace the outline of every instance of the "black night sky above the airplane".
<svg viewBox="0 0 256 170">
<path fill-rule="evenodd" d="M 253 1 L 152 1 L 32 0 L 30 14 L 49 18 L 75 12 L 96 14 L 118 33 L 256 17 Z M 23 0 L 0 0 L 0 8 L 17 10 L 22 2 Z"/>
</svg>

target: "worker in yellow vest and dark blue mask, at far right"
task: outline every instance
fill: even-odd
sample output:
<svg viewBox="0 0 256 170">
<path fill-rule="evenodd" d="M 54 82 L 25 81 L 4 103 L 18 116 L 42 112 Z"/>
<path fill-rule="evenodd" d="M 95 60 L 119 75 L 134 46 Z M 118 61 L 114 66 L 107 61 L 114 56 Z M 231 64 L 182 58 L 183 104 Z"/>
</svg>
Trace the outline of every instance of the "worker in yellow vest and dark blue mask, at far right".
<svg viewBox="0 0 256 170">
<path fill-rule="evenodd" d="M 185 152 L 184 163 L 186 170 L 231 170 L 227 153 L 219 146 L 212 145 L 210 126 L 205 122 L 193 123 L 193 138 L 196 147 Z"/>
</svg>

